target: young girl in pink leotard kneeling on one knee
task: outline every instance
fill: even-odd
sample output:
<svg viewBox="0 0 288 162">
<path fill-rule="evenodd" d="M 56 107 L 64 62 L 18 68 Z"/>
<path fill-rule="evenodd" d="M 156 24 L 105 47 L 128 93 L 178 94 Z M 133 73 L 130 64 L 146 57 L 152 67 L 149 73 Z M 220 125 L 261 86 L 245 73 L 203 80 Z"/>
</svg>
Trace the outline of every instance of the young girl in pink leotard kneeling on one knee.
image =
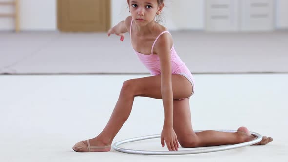
<svg viewBox="0 0 288 162">
<path fill-rule="evenodd" d="M 204 147 L 237 144 L 253 140 L 246 127 L 235 133 L 203 131 L 195 133 L 191 125 L 189 97 L 194 93 L 194 80 L 190 70 L 181 61 L 173 46 L 171 34 L 155 21 L 164 7 L 164 0 L 127 0 L 131 16 L 108 31 L 124 40 L 130 32 L 135 54 L 152 76 L 131 79 L 123 83 L 114 111 L 103 131 L 95 138 L 76 143 L 76 152 L 110 151 L 111 143 L 128 119 L 135 96 L 163 100 L 164 124 L 161 144 L 169 151 L 182 147 Z M 263 137 L 255 145 L 265 145 L 272 138 Z"/>
</svg>

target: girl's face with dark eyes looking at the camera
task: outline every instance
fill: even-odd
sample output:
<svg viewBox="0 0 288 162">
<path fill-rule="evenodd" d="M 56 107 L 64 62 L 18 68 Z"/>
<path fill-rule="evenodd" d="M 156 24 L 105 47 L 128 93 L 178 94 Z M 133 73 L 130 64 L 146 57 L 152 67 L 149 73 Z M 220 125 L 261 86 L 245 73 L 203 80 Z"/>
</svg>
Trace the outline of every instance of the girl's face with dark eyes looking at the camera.
<svg viewBox="0 0 288 162">
<path fill-rule="evenodd" d="M 158 0 L 127 0 L 133 20 L 139 26 L 145 26 L 160 14 L 164 4 L 158 5 Z"/>
</svg>

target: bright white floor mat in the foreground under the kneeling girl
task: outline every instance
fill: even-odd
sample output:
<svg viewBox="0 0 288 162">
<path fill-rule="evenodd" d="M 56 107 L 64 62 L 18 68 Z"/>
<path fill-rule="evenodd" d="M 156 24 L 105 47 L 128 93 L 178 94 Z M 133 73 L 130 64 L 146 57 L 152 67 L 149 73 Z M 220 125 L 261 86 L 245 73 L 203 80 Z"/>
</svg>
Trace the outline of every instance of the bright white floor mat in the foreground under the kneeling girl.
<svg viewBox="0 0 288 162">
<path fill-rule="evenodd" d="M 95 137 L 118 99 L 123 81 L 146 75 L 0 75 L 2 162 L 287 162 L 288 74 L 195 75 L 190 99 L 195 130 L 237 129 L 271 136 L 266 146 L 177 156 L 76 153 L 72 146 Z M 159 134 L 161 100 L 136 98 L 114 142 Z M 114 143 L 113 142 L 113 143 Z M 160 139 L 123 145 L 166 150 Z"/>
</svg>

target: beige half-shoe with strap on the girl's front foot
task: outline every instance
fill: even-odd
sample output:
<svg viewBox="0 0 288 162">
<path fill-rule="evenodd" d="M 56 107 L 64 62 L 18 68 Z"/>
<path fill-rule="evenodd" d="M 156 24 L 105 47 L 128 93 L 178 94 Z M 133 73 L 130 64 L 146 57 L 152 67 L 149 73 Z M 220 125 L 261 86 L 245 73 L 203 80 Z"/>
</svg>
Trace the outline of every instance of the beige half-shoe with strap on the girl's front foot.
<svg viewBox="0 0 288 162">
<path fill-rule="evenodd" d="M 83 142 L 80 141 L 76 143 L 72 149 L 76 152 L 107 152 L 110 151 L 111 145 L 109 146 L 90 146 L 89 140 L 87 140 L 88 146 Z"/>
</svg>

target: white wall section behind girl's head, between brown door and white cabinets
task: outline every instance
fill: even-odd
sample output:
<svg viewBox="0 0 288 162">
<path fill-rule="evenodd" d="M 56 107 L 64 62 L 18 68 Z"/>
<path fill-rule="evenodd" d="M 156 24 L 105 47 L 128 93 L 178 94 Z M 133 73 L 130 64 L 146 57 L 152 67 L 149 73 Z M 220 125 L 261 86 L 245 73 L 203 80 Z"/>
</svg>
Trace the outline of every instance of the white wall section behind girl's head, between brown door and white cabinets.
<svg viewBox="0 0 288 162">
<path fill-rule="evenodd" d="M 164 24 L 169 30 L 203 30 L 204 0 L 165 0 Z M 112 25 L 129 15 L 126 0 L 112 0 Z"/>
</svg>

